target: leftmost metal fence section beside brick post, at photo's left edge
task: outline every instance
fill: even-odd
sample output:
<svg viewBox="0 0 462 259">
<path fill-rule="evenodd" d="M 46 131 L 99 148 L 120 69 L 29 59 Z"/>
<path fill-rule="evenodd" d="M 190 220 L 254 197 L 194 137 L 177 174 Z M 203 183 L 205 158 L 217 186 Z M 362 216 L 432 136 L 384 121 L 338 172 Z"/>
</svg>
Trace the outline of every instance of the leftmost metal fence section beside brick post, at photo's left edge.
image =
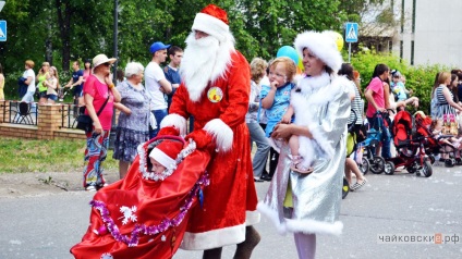
<svg viewBox="0 0 462 259">
<path fill-rule="evenodd" d="M 7 106 L 7 102 L 10 104 Z M 2 121 L 12 124 L 37 125 L 37 102 L 1 101 Z M 8 107 L 8 109 L 7 109 Z"/>
</svg>

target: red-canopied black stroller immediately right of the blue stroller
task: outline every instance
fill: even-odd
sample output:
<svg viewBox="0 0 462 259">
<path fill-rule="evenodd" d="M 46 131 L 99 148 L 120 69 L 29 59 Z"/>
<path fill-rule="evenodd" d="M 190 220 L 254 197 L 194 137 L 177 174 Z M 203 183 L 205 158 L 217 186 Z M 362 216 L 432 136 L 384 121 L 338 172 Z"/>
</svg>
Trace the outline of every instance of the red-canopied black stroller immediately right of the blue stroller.
<svg viewBox="0 0 462 259">
<path fill-rule="evenodd" d="M 426 155 L 425 144 L 430 138 L 425 132 L 417 132 L 414 118 L 408 111 L 400 111 L 391 126 L 397 157 L 387 159 L 386 174 L 393 174 L 396 166 L 404 166 L 409 173 L 431 176 L 431 162 Z"/>
</svg>

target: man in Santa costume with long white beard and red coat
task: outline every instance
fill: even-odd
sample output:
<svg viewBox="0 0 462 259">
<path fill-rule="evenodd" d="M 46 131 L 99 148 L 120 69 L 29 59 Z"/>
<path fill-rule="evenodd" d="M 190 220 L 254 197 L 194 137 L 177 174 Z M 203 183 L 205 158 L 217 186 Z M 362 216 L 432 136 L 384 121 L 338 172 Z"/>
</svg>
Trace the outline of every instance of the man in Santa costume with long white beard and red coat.
<svg viewBox="0 0 462 259">
<path fill-rule="evenodd" d="M 194 116 L 198 149 L 210 152 L 210 185 L 204 203 L 192 210 L 182 248 L 204 250 L 203 258 L 220 258 L 221 248 L 238 244 L 234 258 L 250 258 L 259 242 L 252 226 L 256 211 L 250 134 L 245 114 L 250 99 L 250 66 L 235 50 L 224 10 L 209 4 L 196 14 L 181 62 L 182 83 L 161 127 L 185 133 Z"/>
</svg>

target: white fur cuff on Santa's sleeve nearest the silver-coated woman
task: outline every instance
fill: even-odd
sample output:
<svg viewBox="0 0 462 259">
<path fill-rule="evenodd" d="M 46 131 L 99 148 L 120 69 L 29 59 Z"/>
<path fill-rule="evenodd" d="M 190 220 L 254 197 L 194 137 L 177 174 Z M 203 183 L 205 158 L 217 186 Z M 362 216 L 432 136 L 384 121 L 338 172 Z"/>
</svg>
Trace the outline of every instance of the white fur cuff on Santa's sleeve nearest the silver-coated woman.
<svg viewBox="0 0 462 259">
<path fill-rule="evenodd" d="M 214 119 L 204 126 L 204 131 L 210 134 L 219 151 L 229 151 L 232 148 L 233 135 L 231 127 L 229 127 L 220 119 Z"/>
</svg>

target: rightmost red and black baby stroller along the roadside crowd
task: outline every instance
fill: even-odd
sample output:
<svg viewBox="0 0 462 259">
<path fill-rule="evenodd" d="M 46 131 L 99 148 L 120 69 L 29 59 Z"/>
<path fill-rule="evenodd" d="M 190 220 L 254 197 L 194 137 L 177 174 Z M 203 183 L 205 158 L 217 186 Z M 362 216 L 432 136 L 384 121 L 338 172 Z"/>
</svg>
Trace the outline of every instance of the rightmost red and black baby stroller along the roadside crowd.
<svg viewBox="0 0 462 259">
<path fill-rule="evenodd" d="M 435 157 L 439 157 L 441 155 L 447 155 L 448 159 L 445 160 L 445 166 L 452 168 L 455 162 L 455 147 L 452 145 L 448 145 L 442 143 L 441 139 L 450 138 L 452 135 L 440 135 L 434 136 L 429 131 L 429 125 L 431 124 L 431 119 L 426 116 L 423 112 L 416 112 L 414 115 L 415 119 L 415 127 L 416 132 L 421 136 L 426 136 L 425 143 L 425 152 L 428 155 L 431 164 L 435 162 Z"/>
</svg>

